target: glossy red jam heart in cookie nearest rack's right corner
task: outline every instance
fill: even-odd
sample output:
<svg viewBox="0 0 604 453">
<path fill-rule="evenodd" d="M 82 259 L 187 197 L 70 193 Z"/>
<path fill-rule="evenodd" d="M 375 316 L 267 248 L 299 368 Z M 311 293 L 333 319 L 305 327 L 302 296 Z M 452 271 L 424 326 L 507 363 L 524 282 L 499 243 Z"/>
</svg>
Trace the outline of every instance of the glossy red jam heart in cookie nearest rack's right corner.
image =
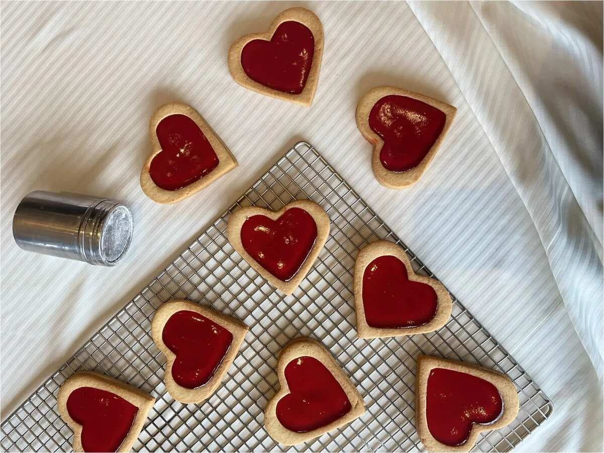
<svg viewBox="0 0 604 453">
<path fill-rule="evenodd" d="M 428 376 L 426 419 L 434 439 L 455 446 L 466 442 L 472 423 L 495 422 L 503 401 L 495 385 L 459 371 L 434 368 Z"/>
</svg>

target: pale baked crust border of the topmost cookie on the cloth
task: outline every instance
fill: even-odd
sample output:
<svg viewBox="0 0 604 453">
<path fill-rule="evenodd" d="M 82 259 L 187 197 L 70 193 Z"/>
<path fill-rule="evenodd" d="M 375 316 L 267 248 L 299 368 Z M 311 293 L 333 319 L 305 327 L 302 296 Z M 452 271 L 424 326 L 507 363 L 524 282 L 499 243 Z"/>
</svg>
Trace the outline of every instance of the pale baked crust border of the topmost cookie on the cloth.
<svg viewBox="0 0 604 453">
<path fill-rule="evenodd" d="M 306 25 L 315 39 L 315 51 L 313 53 L 312 63 L 310 63 L 310 72 L 306 79 L 306 85 L 304 85 L 300 94 L 285 93 L 262 85 L 262 83 L 250 79 L 245 71 L 243 71 L 243 66 L 241 65 L 241 53 L 243 47 L 245 47 L 248 42 L 254 39 L 271 40 L 277 27 L 283 24 L 283 22 L 288 21 L 300 22 L 300 24 Z M 237 39 L 233 45 L 231 45 L 228 52 L 228 68 L 235 82 L 245 88 L 259 92 L 260 94 L 307 107 L 312 104 L 312 100 L 315 97 L 316 85 L 319 82 L 321 60 L 323 59 L 323 43 L 323 25 L 316 14 L 306 8 L 289 8 L 278 14 L 274 21 L 272 21 L 268 31 L 265 33 L 246 34 Z"/>
</svg>

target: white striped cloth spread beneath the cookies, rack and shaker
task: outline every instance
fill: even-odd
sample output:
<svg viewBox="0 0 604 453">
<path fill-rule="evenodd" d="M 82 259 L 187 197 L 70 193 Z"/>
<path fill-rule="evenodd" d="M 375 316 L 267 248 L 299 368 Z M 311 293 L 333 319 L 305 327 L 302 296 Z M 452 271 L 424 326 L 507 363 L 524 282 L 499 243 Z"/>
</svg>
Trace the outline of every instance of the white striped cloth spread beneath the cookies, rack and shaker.
<svg viewBox="0 0 604 453">
<path fill-rule="evenodd" d="M 226 68 L 234 39 L 292 5 L 2 2 L 3 417 L 303 139 L 553 400 L 519 450 L 602 451 L 602 3 L 303 2 L 326 35 L 310 108 L 248 91 Z M 354 121 L 361 95 L 385 84 L 458 108 L 403 191 L 374 180 Z M 173 100 L 198 109 L 240 167 L 160 206 L 138 174 L 150 115 Z M 36 189 L 126 201 L 124 262 L 21 251 L 11 217 Z"/>
</svg>

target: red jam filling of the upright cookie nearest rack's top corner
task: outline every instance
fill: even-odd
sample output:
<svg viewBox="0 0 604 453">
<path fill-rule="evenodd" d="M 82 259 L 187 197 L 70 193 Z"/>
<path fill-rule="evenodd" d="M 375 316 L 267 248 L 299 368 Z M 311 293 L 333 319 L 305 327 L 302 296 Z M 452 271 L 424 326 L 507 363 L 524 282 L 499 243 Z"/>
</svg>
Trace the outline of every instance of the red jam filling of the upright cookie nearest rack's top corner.
<svg viewBox="0 0 604 453">
<path fill-rule="evenodd" d="M 241 227 L 245 251 L 283 281 L 294 277 L 315 241 L 315 219 L 301 208 L 288 209 L 277 220 L 251 216 Z"/>
</svg>

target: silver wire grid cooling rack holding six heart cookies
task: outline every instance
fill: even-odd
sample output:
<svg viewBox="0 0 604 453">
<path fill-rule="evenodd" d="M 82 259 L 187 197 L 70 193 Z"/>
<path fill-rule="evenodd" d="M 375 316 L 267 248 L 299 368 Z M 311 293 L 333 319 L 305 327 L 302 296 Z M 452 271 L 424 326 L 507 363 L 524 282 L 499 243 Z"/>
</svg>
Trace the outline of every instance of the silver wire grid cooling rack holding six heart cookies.
<svg viewBox="0 0 604 453">
<path fill-rule="evenodd" d="M 315 266 L 293 295 L 283 297 L 250 268 L 226 240 L 238 207 L 278 210 L 312 199 L 332 220 Z M 60 419 L 57 391 L 78 370 L 97 370 L 157 397 L 135 451 L 283 451 L 263 428 L 263 410 L 278 388 L 281 348 L 311 336 L 352 377 L 367 413 L 350 425 L 290 451 L 419 451 L 414 427 L 414 371 L 421 352 L 478 362 L 507 373 L 518 388 L 515 422 L 482 435 L 475 451 L 509 451 L 541 425 L 550 400 L 474 317 L 454 298 L 451 320 L 438 332 L 403 338 L 356 338 L 353 268 L 359 248 L 377 239 L 399 243 L 414 268 L 434 276 L 306 143 L 298 143 L 199 236 L 124 309 L 1 425 L 4 451 L 69 451 L 72 432 Z M 250 326 L 223 385 L 201 405 L 184 405 L 165 391 L 165 358 L 150 337 L 155 310 L 187 298 L 235 316 Z"/>
</svg>

